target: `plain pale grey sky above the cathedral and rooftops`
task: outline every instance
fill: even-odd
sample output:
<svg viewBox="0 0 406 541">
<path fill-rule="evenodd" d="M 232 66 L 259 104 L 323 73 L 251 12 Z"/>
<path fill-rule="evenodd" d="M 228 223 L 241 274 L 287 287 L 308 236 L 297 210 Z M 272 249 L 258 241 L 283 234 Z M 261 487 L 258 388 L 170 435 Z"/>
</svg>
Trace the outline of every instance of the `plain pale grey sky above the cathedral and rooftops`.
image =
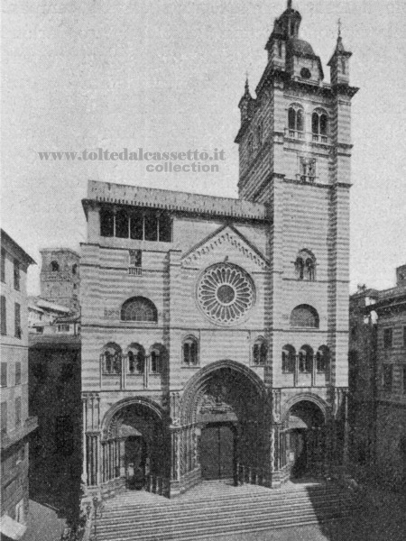
<svg viewBox="0 0 406 541">
<path fill-rule="evenodd" d="M 237 107 L 254 93 L 286 0 L 3 0 L 2 227 L 39 250 L 86 242 L 88 179 L 237 197 Z M 341 20 L 353 98 L 350 290 L 406 262 L 406 3 L 293 0 L 323 63 Z M 44 161 L 40 151 L 224 151 L 218 172 L 143 161 Z"/>
</svg>

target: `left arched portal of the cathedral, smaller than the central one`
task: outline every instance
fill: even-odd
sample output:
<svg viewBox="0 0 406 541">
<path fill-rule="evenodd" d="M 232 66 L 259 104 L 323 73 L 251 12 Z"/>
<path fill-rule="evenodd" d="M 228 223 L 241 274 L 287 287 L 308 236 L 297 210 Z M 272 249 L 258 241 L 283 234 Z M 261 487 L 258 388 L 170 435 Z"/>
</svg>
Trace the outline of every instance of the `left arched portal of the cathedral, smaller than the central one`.
<svg viewBox="0 0 406 541">
<path fill-rule="evenodd" d="M 120 477 L 129 489 L 149 489 L 170 475 L 170 438 L 161 408 L 148 399 L 125 399 L 104 419 L 101 481 Z"/>
</svg>

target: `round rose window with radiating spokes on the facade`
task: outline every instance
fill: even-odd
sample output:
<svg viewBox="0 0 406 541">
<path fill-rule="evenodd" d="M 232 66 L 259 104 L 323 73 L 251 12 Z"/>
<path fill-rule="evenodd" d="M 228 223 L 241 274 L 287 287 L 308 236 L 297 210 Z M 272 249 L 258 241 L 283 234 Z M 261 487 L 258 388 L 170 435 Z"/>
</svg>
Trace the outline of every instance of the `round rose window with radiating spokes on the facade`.
<svg viewBox="0 0 406 541">
<path fill-rule="evenodd" d="M 220 325 L 240 321 L 254 304 L 254 285 L 248 274 L 228 263 L 209 267 L 198 282 L 198 305 Z"/>
</svg>

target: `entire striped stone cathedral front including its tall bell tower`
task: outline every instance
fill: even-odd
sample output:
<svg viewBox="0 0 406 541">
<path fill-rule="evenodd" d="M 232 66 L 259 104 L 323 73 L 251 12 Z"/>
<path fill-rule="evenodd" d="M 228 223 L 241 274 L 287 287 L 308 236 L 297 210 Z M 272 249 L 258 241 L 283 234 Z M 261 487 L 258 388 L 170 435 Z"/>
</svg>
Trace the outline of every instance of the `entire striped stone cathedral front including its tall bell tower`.
<svg viewBox="0 0 406 541">
<path fill-rule="evenodd" d="M 239 198 L 89 181 L 83 481 L 176 496 L 346 463 L 349 58 L 288 2 L 241 98 Z"/>
</svg>

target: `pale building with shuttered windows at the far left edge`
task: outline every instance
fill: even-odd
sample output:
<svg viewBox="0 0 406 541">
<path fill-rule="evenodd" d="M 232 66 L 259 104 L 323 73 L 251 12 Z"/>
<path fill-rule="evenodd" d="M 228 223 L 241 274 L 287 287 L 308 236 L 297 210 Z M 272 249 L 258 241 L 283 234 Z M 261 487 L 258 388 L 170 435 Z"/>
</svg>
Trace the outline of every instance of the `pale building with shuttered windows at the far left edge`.
<svg viewBox="0 0 406 541">
<path fill-rule="evenodd" d="M 37 427 L 28 411 L 26 278 L 35 261 L 1 230 L 1 533 L 23 535 L 28 515 L 28 436 Z"/>
</svg>

